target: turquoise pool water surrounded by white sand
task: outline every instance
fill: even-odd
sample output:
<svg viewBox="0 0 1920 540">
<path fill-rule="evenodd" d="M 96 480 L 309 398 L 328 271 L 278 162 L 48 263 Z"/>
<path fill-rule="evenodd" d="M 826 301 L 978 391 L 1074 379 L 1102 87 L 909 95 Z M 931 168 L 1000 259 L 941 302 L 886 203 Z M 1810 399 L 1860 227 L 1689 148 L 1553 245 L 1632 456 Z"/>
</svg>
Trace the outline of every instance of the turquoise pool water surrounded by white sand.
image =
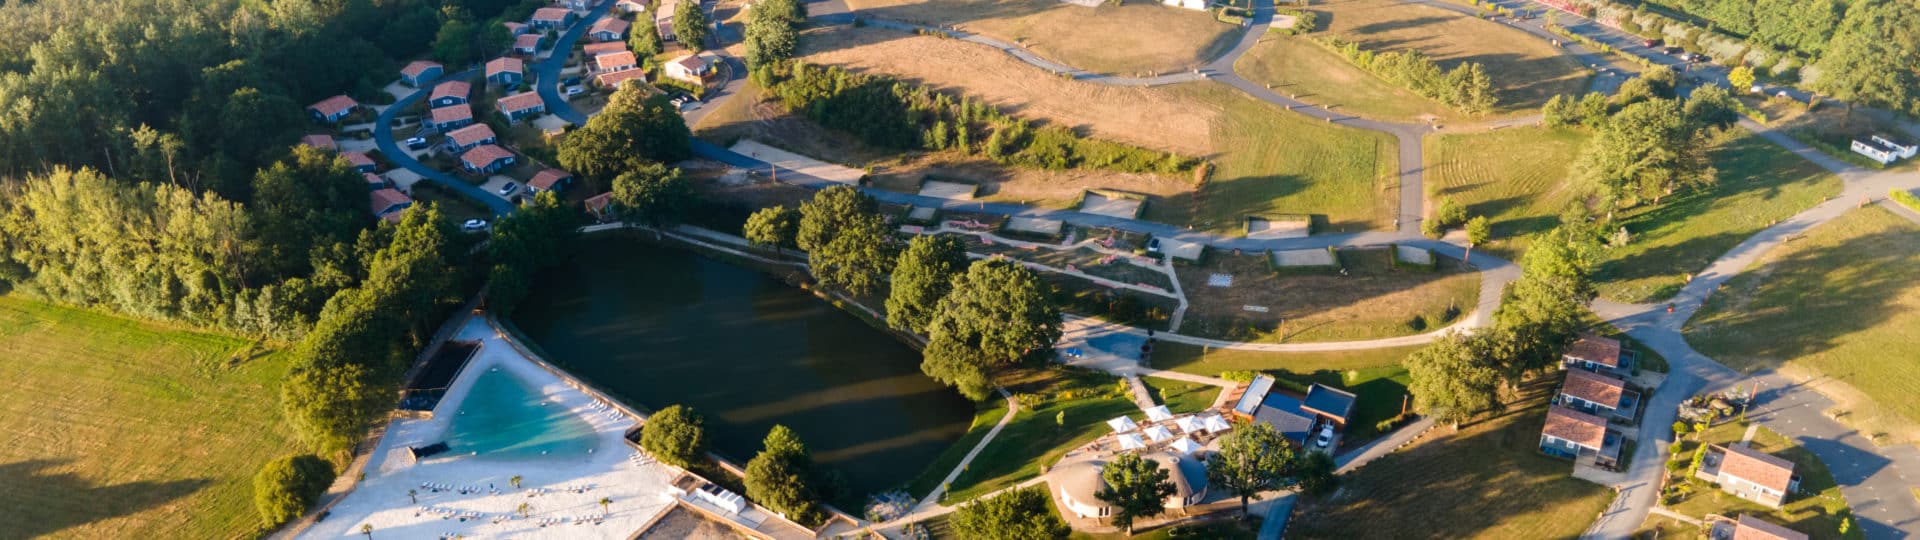
<svg viewBox="0 0 1920 540">
<path fill-rule="evenodd" d="M 593 427 L 507 371 L 486 371 L 453 411 L 447 448 L 455 455 L 522 459 L 588 455 L 599 446 Z"/>
</svg>

